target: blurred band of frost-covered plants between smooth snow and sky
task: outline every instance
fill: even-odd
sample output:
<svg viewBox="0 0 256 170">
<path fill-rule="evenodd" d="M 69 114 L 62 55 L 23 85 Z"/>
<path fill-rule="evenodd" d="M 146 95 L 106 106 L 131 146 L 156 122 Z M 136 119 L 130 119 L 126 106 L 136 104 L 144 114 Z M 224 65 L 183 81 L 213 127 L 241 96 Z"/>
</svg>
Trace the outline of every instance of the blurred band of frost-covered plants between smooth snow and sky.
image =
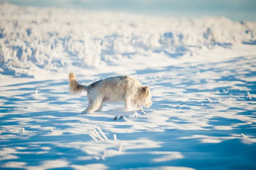
<svg viewBox="0 0 256 170">
<path fill-rule="evenodd" d="M 145 55 L 193 46 L 200 56 L 202 47 L 256 40 L 255 22 L 223 17 L 177 20 L 7 3 L 0 4 L 0 10 L 0 68 L 27 75 L 73 62 L 99 67 L 122 57 L 137 57 L 141 51 Z"/>
</svg>

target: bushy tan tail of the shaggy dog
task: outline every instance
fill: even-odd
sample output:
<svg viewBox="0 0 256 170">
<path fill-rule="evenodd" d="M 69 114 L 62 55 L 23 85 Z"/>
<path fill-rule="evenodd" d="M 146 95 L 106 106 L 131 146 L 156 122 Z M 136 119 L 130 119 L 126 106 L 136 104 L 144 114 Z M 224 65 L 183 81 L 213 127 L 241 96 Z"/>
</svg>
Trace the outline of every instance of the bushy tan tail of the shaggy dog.
<svg viewBox="0 0 256 170">
<path fill-rule="evenodd" d="M 80 94 L 83 90 L 89 91 L 88 87 L 85 85 L 80 85 L 76 80 L 75 74 L 69 74 L 69 92 L 70 94 Z"/>
</svg>

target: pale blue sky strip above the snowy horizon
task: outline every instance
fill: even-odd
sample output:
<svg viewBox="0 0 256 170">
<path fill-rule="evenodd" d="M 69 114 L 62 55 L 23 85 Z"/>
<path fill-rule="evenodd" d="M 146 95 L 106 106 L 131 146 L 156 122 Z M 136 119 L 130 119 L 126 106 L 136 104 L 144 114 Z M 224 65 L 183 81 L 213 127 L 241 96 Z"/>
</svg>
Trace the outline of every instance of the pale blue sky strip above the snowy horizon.
<svg viewBox="0 0 256 170">
<path fill-rule="evenodd" d="M 223 16 L 256 20 L 256 0 L 0 0 L 23 6 L 122 11 L 167 17 Z"/>
</svg>

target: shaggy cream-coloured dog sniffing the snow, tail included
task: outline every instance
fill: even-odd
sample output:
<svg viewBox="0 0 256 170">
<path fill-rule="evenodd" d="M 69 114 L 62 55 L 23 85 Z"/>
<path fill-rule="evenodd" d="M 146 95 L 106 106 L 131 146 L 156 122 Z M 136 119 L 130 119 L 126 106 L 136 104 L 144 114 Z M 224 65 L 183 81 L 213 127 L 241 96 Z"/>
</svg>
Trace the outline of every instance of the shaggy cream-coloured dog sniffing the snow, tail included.
<svg viewBox="0 0 256 170">
<path fill-rule="evenodd" d="M 81 113 L 102 111 L 104 103 L 125 103 L 125 110 L 132 106 L 142 109 L 142 105 L 149 108 L 152 105 L 151 92 L 148 86 L 143 86 L 131 76 L 109 77 L 93 82 L 89 86 L 80 85 L 73 73 L 69 74 L 69 91 L 71 94 L 80 94 L 87 91 L 88 107 Z"/>
</svg>

